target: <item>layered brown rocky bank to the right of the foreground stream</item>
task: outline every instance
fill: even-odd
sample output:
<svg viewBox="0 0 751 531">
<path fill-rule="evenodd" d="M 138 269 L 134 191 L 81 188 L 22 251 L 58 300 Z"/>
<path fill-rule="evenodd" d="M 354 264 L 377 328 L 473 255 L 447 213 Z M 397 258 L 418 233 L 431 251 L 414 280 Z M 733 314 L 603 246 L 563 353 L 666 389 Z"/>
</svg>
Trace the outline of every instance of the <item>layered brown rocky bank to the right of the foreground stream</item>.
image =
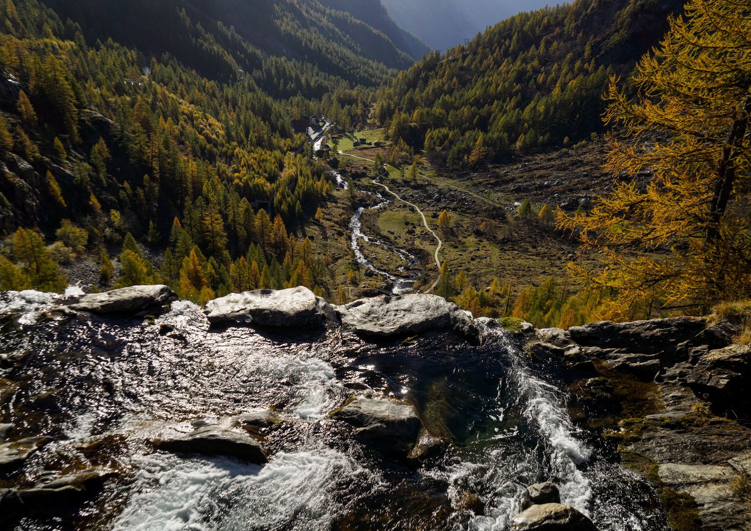
<svg viewBox="0 0 751 531">
<path fill-rule="evenodd" d="M 581 424 L 646 475 L 672 529 L 748 529 L 751 347 L 732 324 L 677 317 L 537 330 L 526 351 L 566 367 Z M 746 496 L 748 494 L 746 493 Z"/>
</svg>

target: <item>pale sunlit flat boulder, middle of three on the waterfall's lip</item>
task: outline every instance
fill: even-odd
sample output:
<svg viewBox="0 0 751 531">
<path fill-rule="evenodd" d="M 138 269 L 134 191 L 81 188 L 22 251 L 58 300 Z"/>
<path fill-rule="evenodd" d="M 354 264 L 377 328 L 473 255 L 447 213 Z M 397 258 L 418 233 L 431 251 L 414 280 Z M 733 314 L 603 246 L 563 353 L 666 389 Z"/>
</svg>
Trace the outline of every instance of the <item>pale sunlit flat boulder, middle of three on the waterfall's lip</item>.
<svg viewBox="0 0 751 531">
<path fill-rule="evenodd" d="M 308 288 L 260 289 L 233 293 L 206 303 L 213 325 L 253 324 L 272 328 L 323 327 L 330 306 Z"/>
</svg>

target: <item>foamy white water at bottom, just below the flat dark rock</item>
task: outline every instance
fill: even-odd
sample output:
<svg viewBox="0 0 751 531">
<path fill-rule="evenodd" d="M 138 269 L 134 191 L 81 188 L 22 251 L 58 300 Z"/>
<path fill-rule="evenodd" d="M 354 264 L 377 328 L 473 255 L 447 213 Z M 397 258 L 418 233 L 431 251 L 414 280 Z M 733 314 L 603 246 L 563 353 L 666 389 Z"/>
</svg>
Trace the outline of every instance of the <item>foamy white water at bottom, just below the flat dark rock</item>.
<svg viewBox="0 0 751 531">
<path fill-rule="evenodd" d="M 138 457 L 133 494 L 113 528 L 327 529 L 342 508 L 336 487 L 369 472 L 327 448 L 274 455 L 265 466 L 225 459 Z"/>
</svg>

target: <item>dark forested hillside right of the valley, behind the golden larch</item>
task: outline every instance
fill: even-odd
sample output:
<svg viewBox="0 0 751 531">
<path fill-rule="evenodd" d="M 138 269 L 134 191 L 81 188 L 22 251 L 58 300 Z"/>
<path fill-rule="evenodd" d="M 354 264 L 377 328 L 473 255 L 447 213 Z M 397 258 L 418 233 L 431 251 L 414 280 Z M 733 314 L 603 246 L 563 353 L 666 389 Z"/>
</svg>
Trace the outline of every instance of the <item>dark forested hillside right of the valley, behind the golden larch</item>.
<svg viewBox="0 0 751 531">
<path fill-rule="evenodd" d="M 399 74 L 375 115 L 439 164 L 572 145 L 603 130 L 611 75 L 629 74 L 682 5 L 578 0 L 518 14 Z"/>
</svg>

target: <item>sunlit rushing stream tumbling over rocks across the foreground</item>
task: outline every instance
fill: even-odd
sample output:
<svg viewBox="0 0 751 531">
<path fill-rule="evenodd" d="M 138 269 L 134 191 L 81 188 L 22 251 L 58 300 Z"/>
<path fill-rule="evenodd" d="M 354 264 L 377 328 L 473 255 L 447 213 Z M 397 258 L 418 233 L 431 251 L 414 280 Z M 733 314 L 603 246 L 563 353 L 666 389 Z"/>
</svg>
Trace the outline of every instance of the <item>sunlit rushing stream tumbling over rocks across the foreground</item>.
<svg viewBox="0 0 751 531">
<path fill-rule="evenodd" d="M 489 324 L 480 345 L 451 333 L 373 343 L 339 329 L 210 330 L 187 302 L 141 323 L 50 317 L 34 292 L 0 297 L 0 422 L 14 439 L 50 437 L 5 485 L 115 473 L 68 517 L 16 529 L 508 529 L 525 487 L 546 480 L 603 531 L 665 529 L 653 490 L 572 423 L 556 374 Z M 352 396 L 412 403 L 451 444 L 418 465 L 385 457 L 328 418 Z M 149 444 L 166 427 L 260 411 L 279 418 L 264 466 Z"/>
</svg>

